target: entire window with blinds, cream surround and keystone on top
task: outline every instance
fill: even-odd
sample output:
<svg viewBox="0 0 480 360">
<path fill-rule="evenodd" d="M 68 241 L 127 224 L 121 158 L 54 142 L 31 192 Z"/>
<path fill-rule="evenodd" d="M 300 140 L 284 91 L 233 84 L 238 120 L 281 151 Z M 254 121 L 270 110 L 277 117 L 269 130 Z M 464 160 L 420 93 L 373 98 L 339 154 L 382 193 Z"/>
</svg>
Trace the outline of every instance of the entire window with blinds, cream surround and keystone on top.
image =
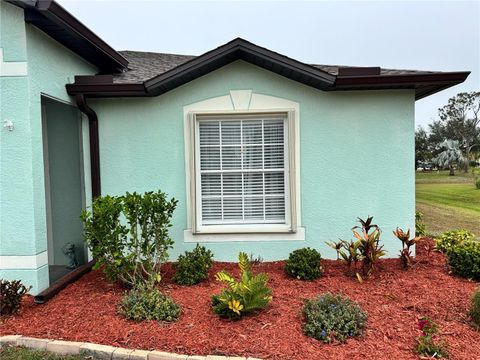
<svg viewBox="0 0 480 360">
<path fill-rule="evenodd" d="M 303 238 L 303 229 L 297 234 L 298 103 L 236 90 L 186 106 L 184 113 L 185 240 Z"/>
</svg>

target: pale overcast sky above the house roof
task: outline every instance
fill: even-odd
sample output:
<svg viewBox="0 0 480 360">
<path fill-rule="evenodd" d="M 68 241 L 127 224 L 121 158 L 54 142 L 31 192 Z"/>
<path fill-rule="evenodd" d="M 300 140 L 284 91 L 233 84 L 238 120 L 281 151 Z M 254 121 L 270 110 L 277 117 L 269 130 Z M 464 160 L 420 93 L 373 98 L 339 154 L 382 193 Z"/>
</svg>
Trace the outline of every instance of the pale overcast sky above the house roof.
<svg viewBox="0 0 480 360">
<path fill-rule="evenodd" d="M 242 37 L 306 63 L 472 72 L 417 101 L 417 125 L 480 91 L 480 1 L 58 2 L 116 50 L 200 55 Z"/>
</svg>

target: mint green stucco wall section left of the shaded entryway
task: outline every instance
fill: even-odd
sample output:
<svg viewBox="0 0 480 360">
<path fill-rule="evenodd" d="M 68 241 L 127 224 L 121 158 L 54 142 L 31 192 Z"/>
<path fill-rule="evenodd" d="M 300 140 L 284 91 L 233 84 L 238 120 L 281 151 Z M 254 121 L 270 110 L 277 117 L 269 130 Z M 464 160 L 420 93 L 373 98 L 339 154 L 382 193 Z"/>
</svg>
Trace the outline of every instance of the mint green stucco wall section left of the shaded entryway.
<svg viewBox="0 0 480 360">
<path fill-rule="evenodd" d="M 20 256 L 18 271 L 1 270 L 0 263 L 0 277 L 28 273 L 21 278 L 35 294 L 48 285 L 48 274 L 25 269 L 21 256 L 47 250 L 41 96 L 73 104 L 65 84 L 96 68 L 25 24 L 22 9 L 0 1 L 0 20 L 4 61 L 27 63 L 26 75 L 0 77 L 1 120 L 15 126 L 0 129 L 0 256 Z"/>
</svg>

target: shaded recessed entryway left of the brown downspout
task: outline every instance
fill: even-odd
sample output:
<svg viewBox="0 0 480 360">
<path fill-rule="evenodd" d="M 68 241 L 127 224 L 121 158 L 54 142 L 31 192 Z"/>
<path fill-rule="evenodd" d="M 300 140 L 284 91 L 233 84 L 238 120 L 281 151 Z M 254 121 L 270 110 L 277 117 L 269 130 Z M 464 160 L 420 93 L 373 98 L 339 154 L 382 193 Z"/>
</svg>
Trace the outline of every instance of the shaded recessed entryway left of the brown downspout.
<svg viewBox="0 0 480 360">
<path fill-rule="evenodd" d="M 48 266 L 50 284 L 87 260 L 81 116 L 76 107 L 42 97 Z"/>
</svg>

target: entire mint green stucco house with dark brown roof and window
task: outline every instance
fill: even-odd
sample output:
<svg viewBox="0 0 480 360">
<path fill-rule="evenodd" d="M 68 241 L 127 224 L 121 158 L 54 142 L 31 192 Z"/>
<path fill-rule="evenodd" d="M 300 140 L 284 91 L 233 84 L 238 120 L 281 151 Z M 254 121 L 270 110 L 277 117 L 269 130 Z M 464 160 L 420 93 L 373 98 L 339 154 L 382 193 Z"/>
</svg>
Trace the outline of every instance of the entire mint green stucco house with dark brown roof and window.
<svg viewBox="0 0 480 360">
<path fill-rule="evenodd" d="M 126 191 L 179 200 L 172 258 L 196 243 L 221 261 L 334 257 L 324 241 L 367 215 L 397 256 L 391 230 L 414 227 L 415 101 L 469 74 L 311 65 L 243 39 L 116 51 L 54 1 L 0 11 L 0 277 L 33 294 L 62 275 L 67 243 L 87 261 L 80 211 Z"/>
</svg>

